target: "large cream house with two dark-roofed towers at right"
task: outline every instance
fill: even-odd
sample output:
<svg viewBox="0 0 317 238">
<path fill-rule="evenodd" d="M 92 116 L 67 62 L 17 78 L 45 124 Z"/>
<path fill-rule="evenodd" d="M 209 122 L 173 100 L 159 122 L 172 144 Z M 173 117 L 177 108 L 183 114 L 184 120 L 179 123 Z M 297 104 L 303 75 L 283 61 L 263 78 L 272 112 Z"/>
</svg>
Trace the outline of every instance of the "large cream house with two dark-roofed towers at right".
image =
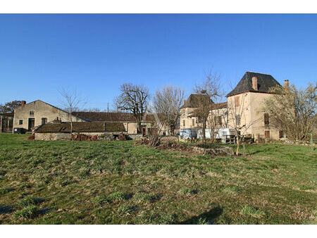
<svg viewBox="0 0 317 238">
<path fill-rule="evenodd" d="M 277 85 L 280 84 L 271 75 L 247 72 L 235 89 L 227 94 L 227 102 L 213 104 L 211 101 L 210 116 L 217 115 L 213 120 L 217 127 L 243 127 L 241 134 L 248 134 L 254 140 L 280 139 L 284 133 L 270 124 L 270 115 L 263 111 L 263 100 L 272 96 L 268 90 Z M 288 80 L 285 80 L 285 87 L 289 87 Z M 197 110 L 201 96 L 203 95 L 191 94 L 181 109 L 180 130 L 192 134 L 193 137 L 197 136 L 199 130 L 199 118 L 192 115 Z M 206 127 L 209 126 L 207 120 Z"/>
</svg>

